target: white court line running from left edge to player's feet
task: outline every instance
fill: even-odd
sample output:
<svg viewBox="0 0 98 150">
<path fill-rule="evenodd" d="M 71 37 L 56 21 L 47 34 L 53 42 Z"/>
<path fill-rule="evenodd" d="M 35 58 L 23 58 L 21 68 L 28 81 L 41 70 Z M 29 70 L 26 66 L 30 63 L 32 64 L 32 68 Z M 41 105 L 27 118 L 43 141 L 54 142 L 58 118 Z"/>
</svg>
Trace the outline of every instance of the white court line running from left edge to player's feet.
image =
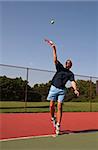
<svg viewBox="0 0 98 150">
<path fill-rule="evenodd" d="M 56 137 L 56 134 L 39 135 L 39 136 L 28 136 L 28 137 L 20 137 L 20 138 L 9 138 L 9 139 L 0 139 L 0 142 L 3 142 L 3 141 L 14 141 L 14 140 L 24 140 L 24 139 L 32 139 L 32 138 L 42 138 L 42 137 Z"/>
</svg>

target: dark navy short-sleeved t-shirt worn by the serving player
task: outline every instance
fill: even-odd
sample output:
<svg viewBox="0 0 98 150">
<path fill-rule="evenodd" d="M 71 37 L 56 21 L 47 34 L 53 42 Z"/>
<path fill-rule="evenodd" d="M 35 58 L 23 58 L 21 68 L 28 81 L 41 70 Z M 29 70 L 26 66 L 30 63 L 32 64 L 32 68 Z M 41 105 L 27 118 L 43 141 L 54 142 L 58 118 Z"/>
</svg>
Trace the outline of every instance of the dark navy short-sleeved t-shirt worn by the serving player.
<svg viewBox="0 0 98 150">
<path fill-rule="evenodd" d="M 64 89 L 68 80 L 74 81 L 74 74 L 58 61 L 56 64 L 56 73 L 52 79 L 52 85 L 57 88 Z"/>
</svg>

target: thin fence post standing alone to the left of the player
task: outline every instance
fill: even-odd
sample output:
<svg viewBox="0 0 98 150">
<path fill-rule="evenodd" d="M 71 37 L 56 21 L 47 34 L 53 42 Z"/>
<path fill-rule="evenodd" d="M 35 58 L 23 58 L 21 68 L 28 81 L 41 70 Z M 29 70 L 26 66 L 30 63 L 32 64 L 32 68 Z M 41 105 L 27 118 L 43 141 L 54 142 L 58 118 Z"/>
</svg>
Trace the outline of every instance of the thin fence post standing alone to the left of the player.
<svg viewBox="0 0 98 150">
<path fill-rule="evenodd" d="M 27 108 L 27 98 L 28 98 L 28 72 L 29 72 L 29 68 L 26 68 L 26 87 L 25 87 L 25 112 L 26 112 L 26 108 Z"/>
</svg>

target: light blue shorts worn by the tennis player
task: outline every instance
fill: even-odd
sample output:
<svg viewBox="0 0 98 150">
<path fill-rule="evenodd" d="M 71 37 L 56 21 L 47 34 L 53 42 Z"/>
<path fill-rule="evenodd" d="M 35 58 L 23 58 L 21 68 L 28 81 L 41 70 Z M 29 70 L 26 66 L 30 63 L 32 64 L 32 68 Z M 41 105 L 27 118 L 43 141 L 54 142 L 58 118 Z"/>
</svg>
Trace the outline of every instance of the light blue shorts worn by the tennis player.
<svg viewBox="0 0 98 150">
<path fill-rule="evenodd" d="M 47 100 L 63 102 L 65 97 L 66 90 L 65 89 L 59 89 L 55 86 L 51 85 L 50 91 L 47 97 Z"/>
</svg>

